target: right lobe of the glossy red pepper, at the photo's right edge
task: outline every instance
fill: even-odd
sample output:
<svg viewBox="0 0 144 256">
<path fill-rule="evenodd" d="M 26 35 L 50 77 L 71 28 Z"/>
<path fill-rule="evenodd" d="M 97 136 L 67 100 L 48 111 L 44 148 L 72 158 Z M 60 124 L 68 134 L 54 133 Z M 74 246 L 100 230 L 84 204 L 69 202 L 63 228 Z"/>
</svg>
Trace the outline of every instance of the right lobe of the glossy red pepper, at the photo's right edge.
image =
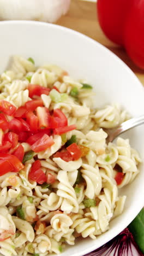
<svg viewBox="0 0 144 256">
<path fill-rule="evenodd" d="M 127 1 L 125 1 L 127 2 Z M 132 1 L 133 2 L 133 1 Z M 129 9 L 124 28 L 124 46 L 134 63 L 144 69 L 144 1 Z"/>
</svg>

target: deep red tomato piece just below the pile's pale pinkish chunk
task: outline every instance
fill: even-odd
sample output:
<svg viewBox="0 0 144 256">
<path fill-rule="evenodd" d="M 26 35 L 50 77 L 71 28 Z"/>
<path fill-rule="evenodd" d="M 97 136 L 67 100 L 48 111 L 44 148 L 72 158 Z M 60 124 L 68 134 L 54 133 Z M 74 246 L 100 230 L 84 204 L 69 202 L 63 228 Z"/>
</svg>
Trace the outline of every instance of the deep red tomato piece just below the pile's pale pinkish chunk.
<svg viewBox="0 0 144 256">
<path fill-rule="evenodd" d="M 31 171 L 29 172 L 29 179 L 32 179 L 32 181 L 36 181 L 39 184 L 43 184 L 46 182 L 46 176 L 43 170 L 41 170 L 41 164 L 40 161 L 37 160 L 33 163 Z"/>
</svg>

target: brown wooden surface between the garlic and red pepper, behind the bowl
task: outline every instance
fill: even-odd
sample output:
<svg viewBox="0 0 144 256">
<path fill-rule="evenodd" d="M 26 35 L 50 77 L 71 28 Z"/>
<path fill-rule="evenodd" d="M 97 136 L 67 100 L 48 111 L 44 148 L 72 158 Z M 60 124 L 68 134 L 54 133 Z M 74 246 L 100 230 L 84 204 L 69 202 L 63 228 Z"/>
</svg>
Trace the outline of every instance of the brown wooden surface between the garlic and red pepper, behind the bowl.
<svg viewBox="0 0 144 256">
<path fill-rule="evenodd" d="M 136 67 L 129 59 L 124 49 L 112 43 L 101 31 L 97 16 L 97 7 L 95 3 L 71 0 L 70 9 L 67 15 L 57 21 L 58 25 L 79 31 L 86 36 L 93 38 L 97 42 L 105 45 L 118 57 L 120 57 L 137 75 L 144 85 L 144 71 Z"/>
</svg>

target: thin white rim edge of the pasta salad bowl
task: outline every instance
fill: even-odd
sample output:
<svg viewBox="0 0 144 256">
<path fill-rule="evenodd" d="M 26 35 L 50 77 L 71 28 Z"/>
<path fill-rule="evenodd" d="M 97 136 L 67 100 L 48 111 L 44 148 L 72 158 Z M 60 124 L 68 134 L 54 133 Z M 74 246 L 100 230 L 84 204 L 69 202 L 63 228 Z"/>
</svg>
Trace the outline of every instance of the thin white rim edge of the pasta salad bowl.
<svg viewBox="0 0 144 256">
<path fill-rule="evenodd" d="M 119 63 L 119 65 L 123 66 L 123 68 L 125 68 L 125 71 L 127 71 L 129 73 L 129 75 L 131 75 L 133 77 L 133 79 L 135 80 L 136 86 L 139 89 L 143 88 L 142 83 L 140 82 L 140 80 L 136 77 L 135 73 L 127 66 L 127 64 L 124 63 L 124 61 L 122 61 L 116 54 L 114 54 L 111 50 L 107 49 L 106 46 L 100 44 L 99 42 L 97 42 L 96 40 L 86 36 L 85 34 L 82 34 L 80 32 L 77 32 L 75 30 L 72 30 L 71 28 L 67 28 L 67 27 L 63 27 L 57 24 L 50 24 L 50 23 L 46 23 L 46 22 L 41 22 L 41 21 L 28 21 L 28 20 L 10 20 L 10 21 L 1 21 L 0 22 L 0 28 L 4 25 L 29 25 L 29 26 L 42 26 L 42 27 L 50 27 L 50 28 L 54 28 L 56 30 L 61 30 L 61 31 L 66 31 L 70 34 L 74 34 L 74 36 L 79 37 L 81 40 L 87 40 L 88 43 L 90 44 L 95 44 L 99 49 L 102 49 L 103 51 L 106 51 L 107 53 L 109 53 L 109 55 L 113 58 L 113 61 L 117 61 Z M 139 87 L 138 87 L 139 86 Z M 130 223 L 131 221 L 133 221 L 133 219 L 137 216 L 137 214 L 141 211 L 143 207 L 143 202 L 140 201 L 139 205 L 136 207 L 135 212 L 131 213 L 130 216 L 128 216 L 127 222 L 121 223 L 121 226 L 117 227 L 117 230 L 115 230 L 113 233 L 115 234 L 114 236 L 112 234 L 109 234 L 109 238 L 108 240 L 106 239 L 106 237 L 104 237 L 103 242 L 101 243 L 100 246 L 103 246 L 105 243 L 109 242 L 113 237 L 116 237 L 123 229 L 125 229 Z M 103 235 L 103 234 L 101 234 Z M 100 236 L 101 236 L 100 235 Z M 99 247 L 100 247 L 99 246 Z M 83 253 L 87 254 L 89 252 L 94 251 L 95 249 L 99 248 L 97 247 L 97 243 L 95 243 L 95 245 L 93 245 L 91 248 L 87 248 L 84 249 L 85 252 L 76 252 L 73 254 L 73 256 L 82 256 L 84 255 Z M 73 248 L 73 247 L 71 247 Z M 63 255 L 63 254 L 62 254 Z"/>
</svg>

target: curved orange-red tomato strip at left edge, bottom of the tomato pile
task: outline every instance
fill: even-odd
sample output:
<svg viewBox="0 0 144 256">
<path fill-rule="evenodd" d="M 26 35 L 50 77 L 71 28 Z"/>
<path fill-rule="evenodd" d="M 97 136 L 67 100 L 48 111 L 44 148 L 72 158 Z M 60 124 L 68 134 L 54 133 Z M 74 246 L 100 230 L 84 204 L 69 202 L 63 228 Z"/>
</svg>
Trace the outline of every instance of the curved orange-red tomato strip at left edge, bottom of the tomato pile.
<svg viewBox="0 0 144 256">
<path fill-rule="evenodd" d="M 10 164 L 13 165 L 15 172 L 19 172 L 24 167 L 22 162 L 15 155 L 0 153 L 0 160 L 8 160 Z"/>
</svg>

